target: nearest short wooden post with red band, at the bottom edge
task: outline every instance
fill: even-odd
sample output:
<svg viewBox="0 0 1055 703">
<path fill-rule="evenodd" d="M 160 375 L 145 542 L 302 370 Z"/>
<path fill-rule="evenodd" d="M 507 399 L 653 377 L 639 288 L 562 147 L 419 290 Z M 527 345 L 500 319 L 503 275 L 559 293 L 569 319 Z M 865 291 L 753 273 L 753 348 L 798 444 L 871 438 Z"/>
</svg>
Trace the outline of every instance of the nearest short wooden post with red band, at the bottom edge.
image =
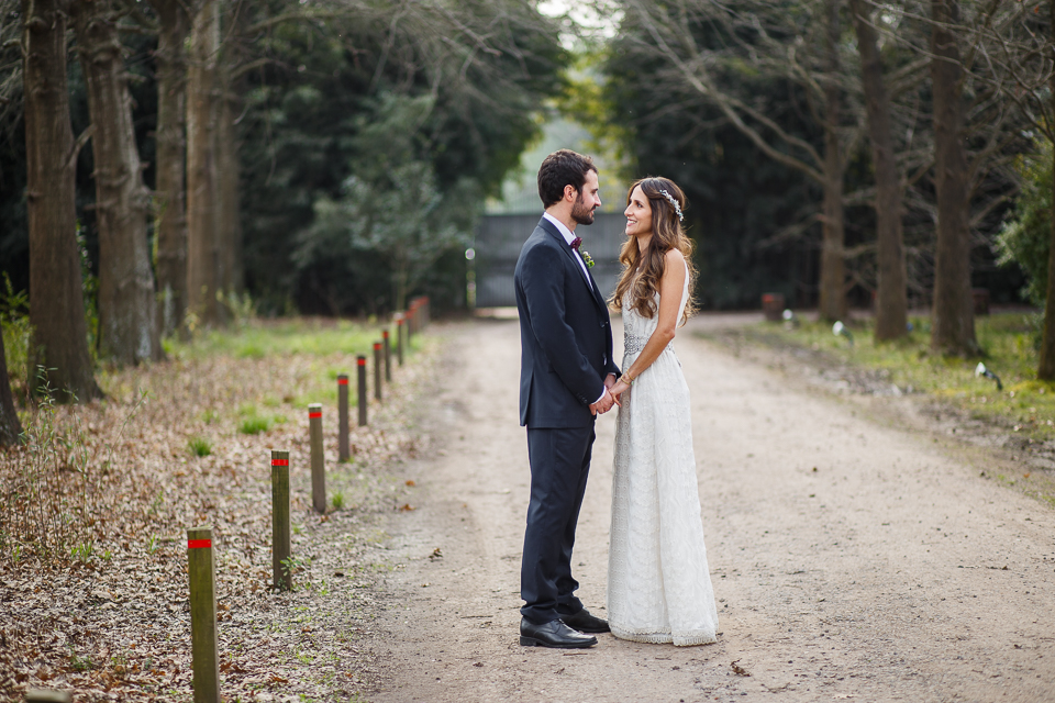
<svg viewBox="0 0 1055 703">
<path fill-rule="evenodd" d="M 187 531 L 187 571 L 190 574 L 190 651 L 195 703 L 220 703 L 212 527 L 193 527 Z"/>
</svg>

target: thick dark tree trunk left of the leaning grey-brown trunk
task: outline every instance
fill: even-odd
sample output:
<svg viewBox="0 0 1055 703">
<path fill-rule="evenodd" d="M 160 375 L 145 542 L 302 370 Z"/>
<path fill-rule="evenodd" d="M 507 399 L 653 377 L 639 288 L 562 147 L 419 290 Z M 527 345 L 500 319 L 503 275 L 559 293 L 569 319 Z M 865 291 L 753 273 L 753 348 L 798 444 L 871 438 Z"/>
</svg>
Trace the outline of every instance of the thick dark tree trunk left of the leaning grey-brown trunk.
<svg viewBox="0 0 1055 703">
<path fill-rule="evenodd" d="M 23 0 L 25 21 L 26 209 L 30 234 L 31 392 L 38 367 L 57 400 L 102 395 L 91 371 L 77 248 L 74 170 L 77 146 L 66 81 L 66 0 Z"/>
</svg>

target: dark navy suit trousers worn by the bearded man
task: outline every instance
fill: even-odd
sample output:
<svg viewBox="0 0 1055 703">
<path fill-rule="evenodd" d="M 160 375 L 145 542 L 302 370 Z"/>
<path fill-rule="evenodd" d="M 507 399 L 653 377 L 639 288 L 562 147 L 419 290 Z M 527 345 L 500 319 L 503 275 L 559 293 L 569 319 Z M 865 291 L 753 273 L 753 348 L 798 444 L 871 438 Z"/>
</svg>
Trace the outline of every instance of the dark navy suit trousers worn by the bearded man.
<svg viewBox="0 0 1055 703">
<path fill-rule="evenodd" d="M 531 500 L 520 570 L 521 614 L 535 624 L 575 615 L 582 602 L 571 577 L 575 526 L 593 450 L 593 425 L 528 428 Z"/>
</svg>

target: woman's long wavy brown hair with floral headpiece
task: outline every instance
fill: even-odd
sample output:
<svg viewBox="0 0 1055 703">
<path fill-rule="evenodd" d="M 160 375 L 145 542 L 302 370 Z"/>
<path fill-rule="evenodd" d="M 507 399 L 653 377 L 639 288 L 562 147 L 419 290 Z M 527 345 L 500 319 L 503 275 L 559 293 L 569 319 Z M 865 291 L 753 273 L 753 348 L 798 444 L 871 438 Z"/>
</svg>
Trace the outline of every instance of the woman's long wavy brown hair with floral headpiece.
<svg viewBox="0 0 1055 703">
<path fill-rule="evenodd" d="M 641 261 L 641 253 L 637 249 L 637 238 L 628 237 L 619 252 L 619 261 L 623 265 L 623 275 L 615 286 L 615 292 L 609 301 L 612 306 L 621 309 L 623 300 L 630 301 L 630 306 L 643 317 L 652 317 L 656 314 L 656 293 L 659 292 L 659 280 L 663 278 L 666 259 L 664 256 L 670 249 L 678 249 L 689 265 L 689 301 L 685 305 L 685 313 L 681 315 L 679 325 L 696 312 L 696 304 L 692 301 L 692 289 L 696 286 L 696 267 L 692 266 L 692 239 L 685 234 L 681 223 L 678 221 L 678 213 L 675 211 L 670 201 L 659 192 L 667 191 L 678 205 L 685 211 L 685 193 L 669 178 L 648 177 L 634 182 L 626 191 L 626 204 L 634 193 L 634 188 L 641 186 L 642 192 L 648 199 L 652 205 L 652 241 L 645 253 L 645 260 Z"/>
</svg>

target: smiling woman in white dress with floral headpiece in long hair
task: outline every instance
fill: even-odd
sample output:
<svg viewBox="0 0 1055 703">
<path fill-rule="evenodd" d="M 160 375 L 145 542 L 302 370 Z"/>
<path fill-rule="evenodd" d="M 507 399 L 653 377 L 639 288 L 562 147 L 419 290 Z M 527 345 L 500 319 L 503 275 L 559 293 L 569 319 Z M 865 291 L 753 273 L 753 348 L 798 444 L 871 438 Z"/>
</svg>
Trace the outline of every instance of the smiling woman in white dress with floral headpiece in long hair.
<svg viewBox="0 0 1055 703">
<path fill-rule="evenodd" d="M 692 242 L 681 228 L 685 194 L 644 178 L 628 196 L 624 266 L 612 295 L 623 311 L 623 376 L 608 562 L 612 634 L 644 643 L 717 641 L 692 453 L 689 389 L 674 354 L 692 313 Z"/>
</svg>

